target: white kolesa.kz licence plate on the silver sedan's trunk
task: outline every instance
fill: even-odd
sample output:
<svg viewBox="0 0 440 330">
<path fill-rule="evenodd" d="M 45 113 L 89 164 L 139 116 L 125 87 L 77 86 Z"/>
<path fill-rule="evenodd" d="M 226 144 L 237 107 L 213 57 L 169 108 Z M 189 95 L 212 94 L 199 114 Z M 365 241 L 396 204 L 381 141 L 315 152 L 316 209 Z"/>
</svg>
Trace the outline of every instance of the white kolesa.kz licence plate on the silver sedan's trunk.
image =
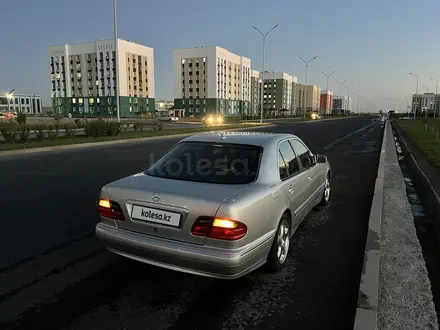
<svg viewBox="0 0 440 330">
<path fill-rule="evenodd" d="M 164 211 L 156 208 L 133 205 L 131 218 L 134 220 L 151 222 L 170 227 L 179 227 L 182 215 L 176 212 Z"/>
</svg>

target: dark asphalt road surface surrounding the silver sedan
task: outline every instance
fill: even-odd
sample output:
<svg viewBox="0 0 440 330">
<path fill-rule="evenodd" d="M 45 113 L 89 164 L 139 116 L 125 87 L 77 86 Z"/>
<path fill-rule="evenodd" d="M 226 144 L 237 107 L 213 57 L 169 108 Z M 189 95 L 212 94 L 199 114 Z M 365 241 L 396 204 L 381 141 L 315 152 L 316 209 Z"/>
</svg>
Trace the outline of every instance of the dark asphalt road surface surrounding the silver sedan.
<svg viewBox="0 0 440 330">
<path fill-rule="evenodd" d="M 93 236 L 101 186 L 145 169 L 178 139 L 0 158 L 0 328 L 352 328 L 382 130 L 337 140 L 370 123 L 260 129 L 297 134 L 326 154 L 332 196 L 299 228 L 282 272 L 237 281 L 126 260 Z"/>
</svg>

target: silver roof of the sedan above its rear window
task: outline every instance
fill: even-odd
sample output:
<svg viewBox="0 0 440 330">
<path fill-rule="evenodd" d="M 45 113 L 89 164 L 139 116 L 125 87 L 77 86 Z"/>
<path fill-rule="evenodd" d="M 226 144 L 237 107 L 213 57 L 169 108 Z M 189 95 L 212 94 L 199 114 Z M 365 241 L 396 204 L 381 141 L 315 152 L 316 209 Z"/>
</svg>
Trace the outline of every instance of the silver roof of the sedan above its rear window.
<svg viewBox="0 0 440 330">
<path fill-rule="evenodd" d="M 282 140 L 284 138 L 296 138 L 293 134 L 264 133 L 264 132 L 208 132 L 190 136 L 183 142 L 214 142 L 236 143 L 262 146 L 269 140 Z"/>
</svg>

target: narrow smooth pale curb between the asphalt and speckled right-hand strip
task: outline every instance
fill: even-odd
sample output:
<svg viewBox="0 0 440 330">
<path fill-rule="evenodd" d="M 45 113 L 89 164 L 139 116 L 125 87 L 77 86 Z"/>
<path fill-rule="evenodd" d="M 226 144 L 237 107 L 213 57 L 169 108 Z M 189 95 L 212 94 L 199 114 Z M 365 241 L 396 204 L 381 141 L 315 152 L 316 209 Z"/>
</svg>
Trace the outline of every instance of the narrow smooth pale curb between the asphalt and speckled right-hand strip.
<svg viewBox="0 0 440 330">
<path fill-rule="evenodd" d="M 382 138 L 379 166 L 374 186 L 370 217 L 368 220 L 368 234 L 359 285 L 354 330 L 373 330 L 377 328 L 379 307 L 380 238 L 382 232 L 387 130 L 391 130 L 389 122 L 386 123 Z"/>
</svg>

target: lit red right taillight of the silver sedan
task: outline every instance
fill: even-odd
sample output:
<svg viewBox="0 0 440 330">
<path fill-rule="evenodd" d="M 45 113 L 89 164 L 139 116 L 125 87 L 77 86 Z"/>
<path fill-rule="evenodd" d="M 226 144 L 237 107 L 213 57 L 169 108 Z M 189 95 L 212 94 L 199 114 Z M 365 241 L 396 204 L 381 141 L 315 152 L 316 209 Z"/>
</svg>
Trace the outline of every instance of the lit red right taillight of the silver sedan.
<svg viewBox="0 0 440 330">
<path fill-rule="evenodd" d="M 246 235 L 247 227 L 236 220 L 200 217 L 194 223 L 191 233 L 195 236 L 235 241 Z"/>
</svg>

